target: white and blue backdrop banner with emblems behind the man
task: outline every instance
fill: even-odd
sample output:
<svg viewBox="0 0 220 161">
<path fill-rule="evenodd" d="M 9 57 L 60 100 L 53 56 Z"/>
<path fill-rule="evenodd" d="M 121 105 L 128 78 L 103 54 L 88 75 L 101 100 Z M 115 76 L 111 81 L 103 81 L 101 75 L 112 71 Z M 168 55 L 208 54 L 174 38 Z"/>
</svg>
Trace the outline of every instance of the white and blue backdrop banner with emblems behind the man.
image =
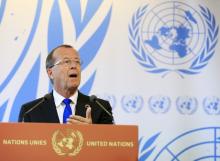
<svg viewBox="0 0 220 161">
<path fill-rule="evenodd" d="M 219 6 L 0 0 L 1 122 L 51 91 L 46 56 L 70 44 L 83 61 L 80 90 L 109 100 L 116 124 L 138 125 L 139 161 L 220 161 Z"/>
</svg>

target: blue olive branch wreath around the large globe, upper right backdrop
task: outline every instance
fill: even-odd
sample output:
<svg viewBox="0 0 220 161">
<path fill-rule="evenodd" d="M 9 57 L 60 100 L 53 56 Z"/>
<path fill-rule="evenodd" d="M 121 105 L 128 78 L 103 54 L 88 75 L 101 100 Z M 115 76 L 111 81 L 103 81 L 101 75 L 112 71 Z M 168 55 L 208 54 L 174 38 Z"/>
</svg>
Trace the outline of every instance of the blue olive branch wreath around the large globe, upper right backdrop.
<svg viewBox="0 0 220 161">
<path fill-rule="evenodd" d="M 183 74 L 193 75 L 201 72 L 201 69 L 208 64 L 208 61 L 215 53 L 215 46 L 218 42 L 219 26 L 216 24 L 214 15 L 208 8 L 200 7 L 200 13 L 205 19 L 207 25 L 208 37 L 206 38 L 205 47 L 201 50 L 201 53 L 192 61 L 188 68 L 183 69 L 168 69 L 160 68 L 156 65 L 151 56 L 146 53 L 141 45 L 140 40 L 140 23 L 143 15 L 147 11 L 147 5 L 139 7 L 132 17 L 132 21 L 129 24 L 129 41 L 131 44 L 131 51 L 138 60 L 138 63 L 146 69 L 147 72 L 161 74 L 165 76 L 167 73 L 174 71 L 177 72 L 182 78 Z"/>
</svg>

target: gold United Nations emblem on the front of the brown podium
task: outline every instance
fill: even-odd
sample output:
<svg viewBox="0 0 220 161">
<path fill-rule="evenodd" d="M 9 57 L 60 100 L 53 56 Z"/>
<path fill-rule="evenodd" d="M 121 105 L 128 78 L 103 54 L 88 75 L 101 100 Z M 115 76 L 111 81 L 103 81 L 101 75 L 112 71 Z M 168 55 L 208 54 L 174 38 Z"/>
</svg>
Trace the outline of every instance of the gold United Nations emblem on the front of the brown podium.
<svg viewBox="0 0 220 161">
<path fill-rule="evenodd" d="M 83 136 L 78 130 L 57 130 L 52 136 L 52 146 L 58 155 L 76 156 L 82 149 Z"/>
</svg>

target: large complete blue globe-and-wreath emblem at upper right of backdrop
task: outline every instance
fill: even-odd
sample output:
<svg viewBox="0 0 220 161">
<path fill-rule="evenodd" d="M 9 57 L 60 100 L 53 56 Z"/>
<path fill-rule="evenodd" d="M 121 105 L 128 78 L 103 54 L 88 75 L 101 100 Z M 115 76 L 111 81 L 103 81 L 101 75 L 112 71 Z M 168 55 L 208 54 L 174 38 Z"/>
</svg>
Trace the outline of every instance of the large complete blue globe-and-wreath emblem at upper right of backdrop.
<svg viewBox="0 0 220 161">
<path fill-rule="evenodd" d="M 129 40 L 132 54 L 145 71 L 184 77 L 200 73 L 208 64 L 218 31 L 208 8 L 169 1 L 139 7 L 129 24 Z"/>
</svg>

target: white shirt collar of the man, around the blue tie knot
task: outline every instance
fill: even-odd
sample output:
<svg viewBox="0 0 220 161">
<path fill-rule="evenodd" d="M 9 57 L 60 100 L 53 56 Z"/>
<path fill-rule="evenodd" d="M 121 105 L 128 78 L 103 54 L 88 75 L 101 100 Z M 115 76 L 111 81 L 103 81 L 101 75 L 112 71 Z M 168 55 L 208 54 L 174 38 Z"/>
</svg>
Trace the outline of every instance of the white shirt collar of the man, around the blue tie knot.
<svg viewBox="0 0 220 161">
<path fill-rule="evenodd" d="M 53 97 L 56 107 L 58 107 L 65 99 L 65 97 L 60 95 L 55 89 L 53 90 Z M 78 90 L 69 99 L 71 99 L 72 102 L 76 104 L 77 98 L 78 98 Z"/>
</svg>

